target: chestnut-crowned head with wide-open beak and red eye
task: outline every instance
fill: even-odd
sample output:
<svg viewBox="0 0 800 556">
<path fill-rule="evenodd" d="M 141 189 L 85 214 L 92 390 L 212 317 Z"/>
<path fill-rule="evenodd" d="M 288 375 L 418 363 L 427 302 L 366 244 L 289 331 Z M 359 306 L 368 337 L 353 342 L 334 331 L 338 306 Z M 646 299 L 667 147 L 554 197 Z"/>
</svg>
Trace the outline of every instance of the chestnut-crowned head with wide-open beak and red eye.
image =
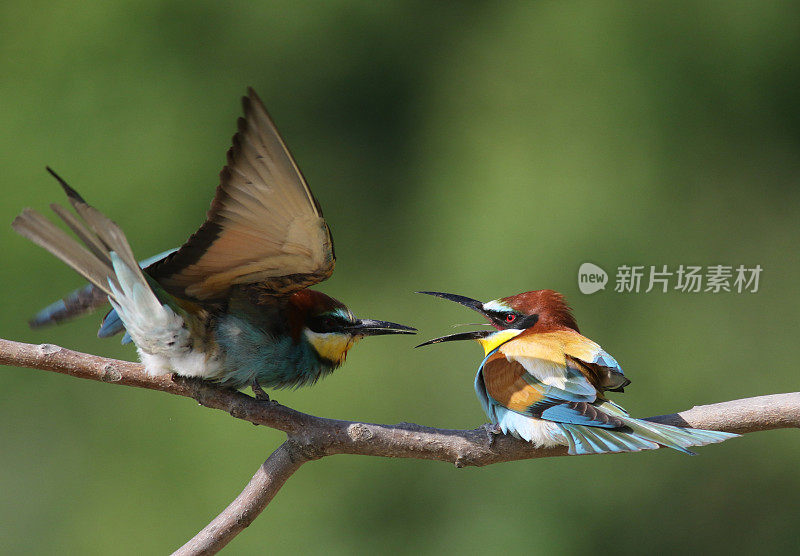
<svg viewBox="0 0 800 556">
<path fill-rule="evenodd" d="M 569 328 L 578 331 L 564 296 L 553 290 L 535 290 L 482 303 L 463 295 L 418 292 L 460 303 L 483 315 L 494 330 L 476 330 L 428 340 L 417 347 L 454 340 L 477 340 L 488 354 L 526 330 L 546 332 Z"/>
</svg>

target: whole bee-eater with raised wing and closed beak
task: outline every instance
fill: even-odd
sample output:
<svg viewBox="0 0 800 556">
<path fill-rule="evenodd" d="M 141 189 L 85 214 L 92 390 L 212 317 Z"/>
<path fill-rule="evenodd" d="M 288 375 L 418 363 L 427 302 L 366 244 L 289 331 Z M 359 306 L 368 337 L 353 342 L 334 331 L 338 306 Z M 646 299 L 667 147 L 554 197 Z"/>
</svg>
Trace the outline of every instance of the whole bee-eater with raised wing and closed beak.
<svg viewBox="0 0 800 556">
<path fill-rule="evenodd" d="M 177 250 L 137 264 L 114 222 L 61 183 L 76 217 L 53 211 L 83 245 L 25 209 L 13 228 L 91 284 L 31 322 L 60 322 L 111 303 L 99 335 L 126 331 L 152 375 L 175 372 L 239 388 L 313 384 L 341 365 L 364 336 L 415 329 L 359 319 L 308 289 L 333 272 L 330 230 L 300 169 L 256 93 L 205 223 Z"/>
</svg>

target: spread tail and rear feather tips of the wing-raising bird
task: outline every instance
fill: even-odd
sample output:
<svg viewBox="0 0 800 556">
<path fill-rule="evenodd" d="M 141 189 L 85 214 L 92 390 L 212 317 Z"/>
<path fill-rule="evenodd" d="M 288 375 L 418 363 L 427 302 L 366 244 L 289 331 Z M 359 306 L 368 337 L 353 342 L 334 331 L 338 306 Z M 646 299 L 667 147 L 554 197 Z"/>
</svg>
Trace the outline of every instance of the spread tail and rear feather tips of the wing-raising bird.
<svg viewBox="0 0 800 556">
<path fill-rule="evenodd" d="M 32 321 L 33 326 L 59 322 L 70 316 L 87 312 L 119 292 L 137 286 L 155 299 L 147 279 L 139 269 L 122 230 L 100 211 L 90 206 L 53 170 L 47 169 L 67 194 L 70 204 L 78 213 L 76 217 L 64 207 L 51 204 L 61 220 L 83 242 L 81 245 L 61 228 L 33 209 L 25 209 L 11 224 L 14 230 L 61 259 L 91 284 L 41 311 Z M 119 299 L 117 302 L 121 301 Z"/>
</svg>

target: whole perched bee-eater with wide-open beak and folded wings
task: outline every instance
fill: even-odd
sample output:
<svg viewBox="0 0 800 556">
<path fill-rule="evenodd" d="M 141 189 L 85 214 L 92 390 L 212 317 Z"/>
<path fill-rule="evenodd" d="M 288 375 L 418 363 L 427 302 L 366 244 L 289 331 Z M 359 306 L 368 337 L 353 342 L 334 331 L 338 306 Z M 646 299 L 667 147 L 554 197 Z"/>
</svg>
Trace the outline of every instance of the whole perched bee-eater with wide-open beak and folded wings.
<svg viewBox="0 0 800 556">
<path fill-rule="evenodd" d="M 469 297 L 419 292 L 473 309 L 494 330 L 451 334 L 420 346 L 477 340 L 485 357 L 475 392 L 503 433 L 536 446 L 564 445 L 570 454 L 638 452 L 722 442 L 736 434 L 687 429 L 634 419 L 606 399 L 630 384 L 619 364 L 582 336 L 564 297 L 553 290 L 525 292 L 481 303 Z M 420 347 L 417 346 L 417 347 Z"/>
</svg>

